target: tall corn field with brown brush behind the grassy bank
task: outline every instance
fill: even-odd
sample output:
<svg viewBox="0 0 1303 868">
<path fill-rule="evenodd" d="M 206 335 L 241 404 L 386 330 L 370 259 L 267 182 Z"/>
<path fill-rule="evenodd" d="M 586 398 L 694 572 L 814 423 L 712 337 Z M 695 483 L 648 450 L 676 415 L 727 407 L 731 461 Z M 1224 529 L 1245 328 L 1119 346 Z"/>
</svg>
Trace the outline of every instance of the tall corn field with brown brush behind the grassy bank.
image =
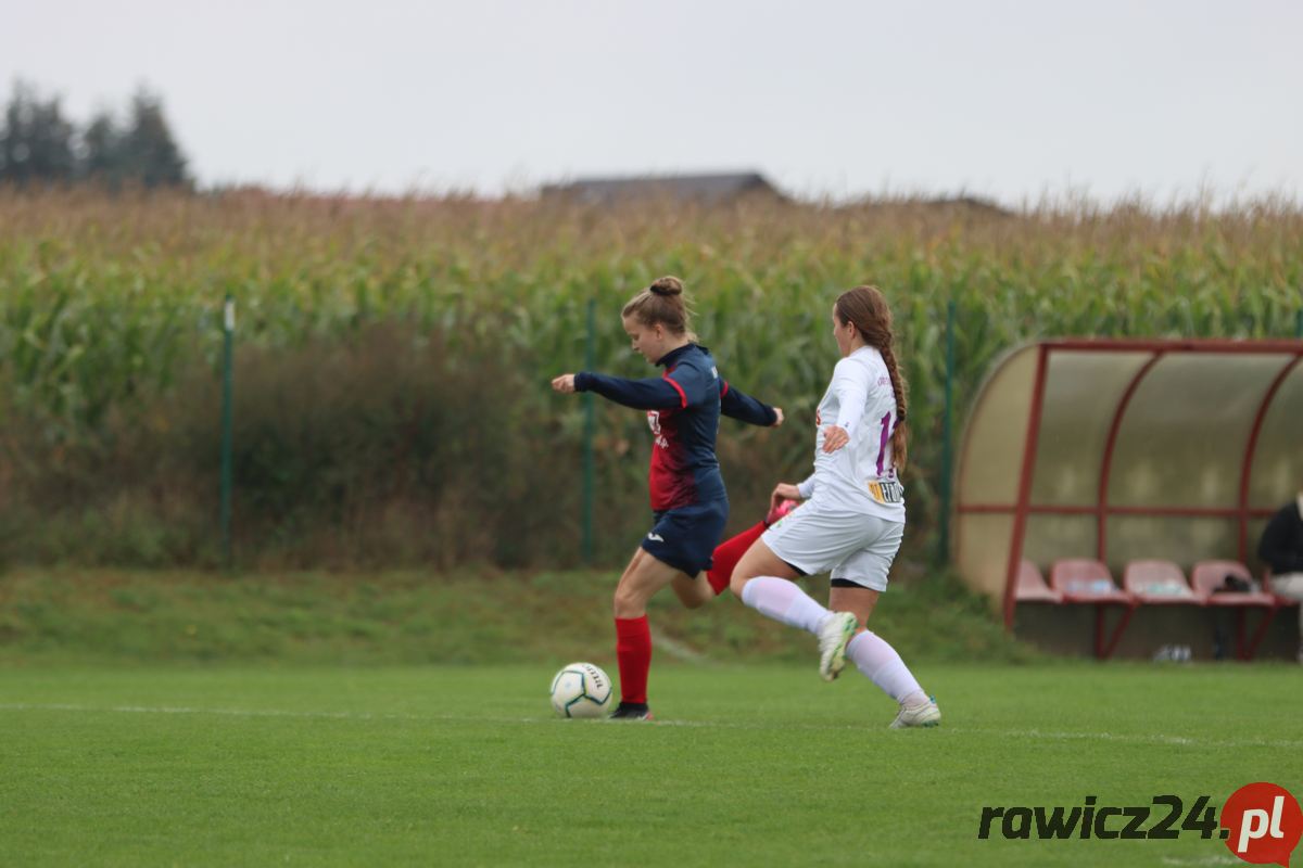
<svg viewBox="0 0 1303 868">
<path fill-rule="evenodd" d="M 962 423 L 1046 336 L 1290 337 L 1303 210 L 0 194 L 0 557 L 215 562 L 222 301 L 237 305 L 241 562 L 573 562 L 582 366 L 648 376 L 619 310 L 680 276 L 723 375 L 790 423 L 726 422 L 734 526 L 804 475 L 837 294 L 881 286 L 911 385 L 911 535 L 937 519 L 945 321 Z M 646 523 L 645 423 L 598 407 L 598 556 Z"/>
</svg>

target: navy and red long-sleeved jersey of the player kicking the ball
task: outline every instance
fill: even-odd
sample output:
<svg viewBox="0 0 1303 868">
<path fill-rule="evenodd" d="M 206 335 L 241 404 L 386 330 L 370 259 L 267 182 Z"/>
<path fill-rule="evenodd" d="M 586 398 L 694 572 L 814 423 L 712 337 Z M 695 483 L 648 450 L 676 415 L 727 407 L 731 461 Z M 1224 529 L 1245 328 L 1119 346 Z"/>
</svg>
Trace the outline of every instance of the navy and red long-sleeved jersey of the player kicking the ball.
<svg viewBox="0 0 1303 868">
<path fill-rule="evenodd" d="M 715 458 L 719 414 L 753 426 L 771 426 L 778 414 L 730 388 L 704 346 L 687 344 L 657 364 L 665 373 L 646 380 L 581 371 L 575 375 L 575 389 L 648 411 L 654 439 L 649 474 L 653 510 L 722 500 L 724 480 Z"/>
</svg>

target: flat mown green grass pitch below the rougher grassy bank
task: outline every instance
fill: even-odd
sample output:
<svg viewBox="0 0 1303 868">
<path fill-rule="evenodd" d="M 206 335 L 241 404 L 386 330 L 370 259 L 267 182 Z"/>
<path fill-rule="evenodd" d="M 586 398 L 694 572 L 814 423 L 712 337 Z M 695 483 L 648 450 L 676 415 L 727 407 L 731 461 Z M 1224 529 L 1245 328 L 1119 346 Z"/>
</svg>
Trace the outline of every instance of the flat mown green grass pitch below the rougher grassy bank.
<svg viewBox="0 0 1303 868">
<path fill-rule="evenodd" d="M 0 864 L 1234 865 L 977 829 L 1303 789 L 1295 666 L 924 662 L 909 731 L 853 671 L 661 660 L 659 720 L 615 724 L 552 717 L 551 670 L 8 664 Z"/>
</svg>

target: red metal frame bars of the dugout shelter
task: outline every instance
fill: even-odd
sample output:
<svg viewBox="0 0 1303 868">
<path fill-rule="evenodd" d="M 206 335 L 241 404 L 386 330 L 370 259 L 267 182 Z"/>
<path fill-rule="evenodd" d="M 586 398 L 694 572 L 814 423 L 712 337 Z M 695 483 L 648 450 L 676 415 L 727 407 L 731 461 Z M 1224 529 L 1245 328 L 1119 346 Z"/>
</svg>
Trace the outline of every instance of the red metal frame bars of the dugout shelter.
<svg viewBox="0 0 1303 868">
<path fill-rule="evenodd" d="M 1276 398 L 1276 393 L 1280 387 L 1285 383 L 1300 360 L 1303 360 L 1303 342 L 1296 340 L 1267 340 L 1267 341 L 1240 341 L 1240 340 L 1224 340 L 1224 338 L 1201 338 L 1201 340 L 1152 340 L 1152 338 L 1055 338 L 1041 341 L 1036 345 L 1036 379 L 1032 387 L 1032 406 L 1031 413 L 1027 419 L 1027 433 L 1023 441 L 1023 462 L 1019 471 L 1018 479 L 1018 501 L 1015 504 L 956 504 L 955 510 L 958 513 L 995 513 L 995 514 L 1014 514 L 1014 532 L 1010 539 L 1009 547 L 1009 562 L 1005 571 L 1005 600 L 1003 600 L 1003 613 L 1005 613 L 1005 627 L 1012 630 L 1014 626 L 1014 608 L 1016 605 L 1015 591 L 1018 586 L 1018 565 L 1023 557 L 1023 543 L 1027 534 L 1027 518 L 1033 514 L 1059 514 L 1059 515 L 1096 515 L 1097 517 L 1097 540 L 1096 540 L 1096 553 L 1098 560 L 1106 560 L 1108 554 L 1108 517 L 1109 515 L 1157 515 L 1157 517 L 1210 517 L 1210 518 L 1238 518 L 1239 519 L 1239 560 L 1243 561 L 1247 554 L 1247 527 L 1250 518 L 1263 518 L 1272 515 L 1274 510 L 1270 509 L 1253 509 L 1248 506 L 1248 483 L 1252 472 L 1253 458 L 1257 450 L 1257 437 L 1261 432 L 1263 420 L 1267 418 L 1267 413 L 1270 410 L 1272 402 Z M 1049 355 L 1054 350 L 1068 350 L 1068 351 L 1131 351 L 1131 353 L 1152 353 L 1153 357 L 1148 359 L 1132 376 L 1131 381 L 1127 384 L 1126 390 L 1118 400 L 1118 406 L 1114 409 L 1113 422 L 1109 427 L 1109 436 L 1105 444 L 1104 459 L 1100 468 L 1100 484 L 1098 484 L 1098 498 L 1095 506 L 1059 506 L 1049 504 L 1031 504 L 1031 489 L 1032 489 L 1032 475 L 1036 466 L 1036 452 L 1040 440 L 1041 428 L 1041 413 L 1045 403 L 1045 379 L 1049 367 Z M 1270 355 L 1270 354 L 1287 354 L 1293 357 L 1287 364 L 1285 364 L 1281 371 L 1272 380 L 1270 387 L 1263 396 L 1263 401 L 1259 405 L 1257 415 L 1253 419 L 1253 427 L 1250 432 L 1248 441 L 1244 446 L 1244 458 L 1240 465 L 1240 487 L 1239 487 L 1239 502 L 1234 508 L 1200 508 L 1200 506 L 1117 506 L 1109 505 L 1108 502 L 1108 485 L 1109 474 L 1113 466 L 1113 452 L 1117 445 L 1118 433 L 1122 427 L 1122 418 L 1126 414 L 1127 406 L 1131 402 L 1136 389 L 1139 388 L 1141 380 L 1149 373 L 1149 371 L 1164 358 L 1171 355 L 1173 353 L 1229 353 L 1229 354 L 1256 354 L 1256 355 Z M 964 442 L 964 454 L 967 455 L 968 442 Z M 1130 613 L 1128 613 L 1130 614 Z M 1113 652 L 1117 645 L 1118 639 L 1122 635 L 1122 630 L 1126 627 L 1130 617 L 1124 616 L 1122 623 L 1114 631 L 1113 636 L 1105 643 L 1104 640 L 1104 613 L 1102 609 L 1097 612 L 1096 618 L 1096 653 L 1101 651 L 1104 655 Z M 1257 635 L 1250 642 L 1248 653 L 1256 648 L 1257 642 L 1265 634 L 1267 619 L 1260 626 Z"/>
</svg>

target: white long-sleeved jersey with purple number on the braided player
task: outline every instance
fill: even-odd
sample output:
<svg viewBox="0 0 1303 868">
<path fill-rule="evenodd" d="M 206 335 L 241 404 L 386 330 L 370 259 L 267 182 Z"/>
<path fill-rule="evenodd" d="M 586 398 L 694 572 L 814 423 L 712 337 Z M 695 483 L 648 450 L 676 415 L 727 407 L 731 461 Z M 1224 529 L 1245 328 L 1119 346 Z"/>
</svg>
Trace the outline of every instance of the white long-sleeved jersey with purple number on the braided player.
<svg viewBox="0 0 1303 868">
<path fill-rule="evenodd" d="M 801 496 L 835 510 L 903 522 L 904 487 L 891 463 L 895 392 L 881 353 L 865 346 L 837 363 L 814 422 L 814 474 L 800 484 Z M 851 439 L 825 453 L 823 436 L 834 424 Z"/>
</svg>

